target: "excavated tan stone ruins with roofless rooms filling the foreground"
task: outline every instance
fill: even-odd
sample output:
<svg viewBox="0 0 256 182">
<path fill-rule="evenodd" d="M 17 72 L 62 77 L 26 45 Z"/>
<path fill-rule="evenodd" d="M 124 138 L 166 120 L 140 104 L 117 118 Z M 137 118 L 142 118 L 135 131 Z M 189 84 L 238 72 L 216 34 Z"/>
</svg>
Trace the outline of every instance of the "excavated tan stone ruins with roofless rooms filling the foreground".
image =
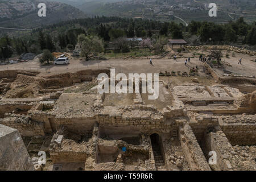
<svg viewBox="0 0 256 182">
<path fill-rule="evenodd" d="M 2 71 L 0 170 L 256 170 L 255 91 L 160 77 L 151 101 L 98 94 L 102 72 Z"/>
</svg>

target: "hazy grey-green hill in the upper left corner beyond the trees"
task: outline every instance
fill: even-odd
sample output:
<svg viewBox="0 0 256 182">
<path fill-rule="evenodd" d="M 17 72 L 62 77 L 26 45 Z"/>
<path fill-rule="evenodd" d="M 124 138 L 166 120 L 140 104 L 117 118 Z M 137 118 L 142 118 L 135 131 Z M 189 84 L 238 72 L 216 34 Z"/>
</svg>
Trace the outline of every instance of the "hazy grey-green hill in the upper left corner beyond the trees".
<svg viewBox="0 0 256 182">
<path fill-rule="evenodd" d="M 46 17 L 38 16 L 39 3 L 46 4 Z M 75 18 L 85 18 L 85 14 L 65 3 L 46 0 L 0 1 L 0 27 L 36 28 Z"/>
</svg>

